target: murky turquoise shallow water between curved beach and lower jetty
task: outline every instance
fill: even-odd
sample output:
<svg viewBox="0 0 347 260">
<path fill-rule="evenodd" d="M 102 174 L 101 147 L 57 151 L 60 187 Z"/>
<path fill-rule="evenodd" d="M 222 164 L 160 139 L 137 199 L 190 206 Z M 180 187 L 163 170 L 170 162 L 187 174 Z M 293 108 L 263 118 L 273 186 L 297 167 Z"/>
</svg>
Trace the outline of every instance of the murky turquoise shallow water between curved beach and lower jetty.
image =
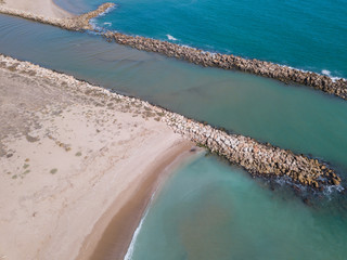
<svg viewBox="0 0 347 260">
<path fill-rule="evenodd" d="M 326 197 L 307 206 L 291 191 L 270 191 L 202 157 L 163 187 L 131 259 L 346 259 L 346 207 Z"/>
</svg>

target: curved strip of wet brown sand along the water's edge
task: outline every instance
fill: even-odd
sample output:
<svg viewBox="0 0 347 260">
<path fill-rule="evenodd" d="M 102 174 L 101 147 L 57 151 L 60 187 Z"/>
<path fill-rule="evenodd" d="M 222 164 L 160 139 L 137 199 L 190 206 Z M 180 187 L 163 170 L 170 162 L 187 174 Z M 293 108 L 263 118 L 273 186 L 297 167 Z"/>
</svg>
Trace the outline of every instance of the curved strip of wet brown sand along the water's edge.
<svg viewBox="0 0 347 260">
<path fill-rule="evenodd" d="M 163 187 L 165 181 L 178 168 L 197 156 L 197 151 L 191 151 L 191 145 L 172 147 L 159 161 L 150 167 L 150 173 L 132 188 L 136 193 L 128 197 L 126 205 L 114 212 L 115 204 L 97 222 L 88 235 L 76 260 L 88 259 L 124 259 L 129 250 L 136 230 L 139 226 L 152 199 Z M 153 197 L 154 196 L 154 197 Z"/>
</svg>

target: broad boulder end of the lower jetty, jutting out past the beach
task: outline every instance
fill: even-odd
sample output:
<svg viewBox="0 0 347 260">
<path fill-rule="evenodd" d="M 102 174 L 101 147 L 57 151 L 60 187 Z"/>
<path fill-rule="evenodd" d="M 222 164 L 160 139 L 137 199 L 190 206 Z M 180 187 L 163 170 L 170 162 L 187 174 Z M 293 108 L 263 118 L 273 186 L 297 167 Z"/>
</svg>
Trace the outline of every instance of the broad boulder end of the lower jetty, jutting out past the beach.
<svg viewBox="0 0 347 260">
<path fill-rule="evenodd" d="M 340 183 L 334 170 L 317 159 L 262 144 L 248 136 L 229 134 L 175 113 L 168 113 L 166 117 L 167 125 L 176 132 L 224 157 L 231 164 L 242 166 L 252 176 L 287 177 L 293 183 L 313 188 Z"/>
</svg>

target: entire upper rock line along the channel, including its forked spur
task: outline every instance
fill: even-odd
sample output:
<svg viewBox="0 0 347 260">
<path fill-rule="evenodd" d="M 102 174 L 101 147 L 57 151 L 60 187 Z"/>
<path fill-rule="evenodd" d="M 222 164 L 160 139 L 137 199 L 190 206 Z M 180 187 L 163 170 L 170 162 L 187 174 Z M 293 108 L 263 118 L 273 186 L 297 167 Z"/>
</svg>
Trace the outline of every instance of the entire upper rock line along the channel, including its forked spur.
<svg viewBox="0 0 347 260">
<path fill-rule="evenodd" d="M 90 20 L 101 15 L 114 6 L 114 3 L 104 3 L 95 11 L 73 18 L 48 18 L 40 15 L 30 14 L 28 12 L 5 9 L 1 5 L 0 13 L 59 26 L 68 30 L 95 30 L 95 28 L 93 28 L 93 26 L 90 24 Z M 303 72 L 271 62 L 259 61 L 256 58 L 249 60 L 235 55 L 210 53 L 195 48 L 183 47 L 168 41 L 160 41 L 145 37 L 133 37 L 115 31 L 98 32 L 100 32 L 108 41 L 115 41 L 119 44 L 130 46 L 138 50 L 160 53 L 169 57 L 176 57 L 205 67 L 219 67 L 223 69 L 241 70 L 277 79 L 285 83 L 308 86 L 347 100 L 347 80 L 343 78 L 333 80 L 327 76 L 319 75 L 317 73 Z"/>
</svg>

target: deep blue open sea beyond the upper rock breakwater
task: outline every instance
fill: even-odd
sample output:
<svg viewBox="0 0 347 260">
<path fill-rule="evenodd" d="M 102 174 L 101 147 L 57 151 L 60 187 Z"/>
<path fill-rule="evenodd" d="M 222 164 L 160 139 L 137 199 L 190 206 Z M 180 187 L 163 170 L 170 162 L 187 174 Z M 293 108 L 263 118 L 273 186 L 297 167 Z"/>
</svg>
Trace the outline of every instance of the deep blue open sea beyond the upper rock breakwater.
<svg viewBox="0 0 347 260">
<path fill-rule="evenodd" d="M 99 18 L 99 26 L 347 77 L 346 0 L 118 0 L 115 3 L 117 9 Z"/>
</svg>

